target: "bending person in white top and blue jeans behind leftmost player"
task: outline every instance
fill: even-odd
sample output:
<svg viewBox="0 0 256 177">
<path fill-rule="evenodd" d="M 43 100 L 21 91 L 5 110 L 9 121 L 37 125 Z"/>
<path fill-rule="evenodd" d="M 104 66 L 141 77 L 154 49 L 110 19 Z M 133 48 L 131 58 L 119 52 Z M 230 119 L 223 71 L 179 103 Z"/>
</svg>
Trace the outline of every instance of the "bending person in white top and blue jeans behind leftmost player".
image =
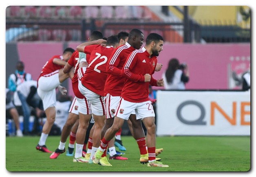
<svg viewBox="0 0 256 177">
<path fill-rule="evenodd" d="M 38 118 L 44 114 L 42 100 L 37 94 L 37 81 L 24 81 L 17 87 L 18 96 L 22 103 L 23 110 L 23 133 L 24 135 L 30 135 L 29 130 L 29 118 L 31 116 L 31 108 L 35 109 L 34 122 L 38 122 Z"/>
</svg>

